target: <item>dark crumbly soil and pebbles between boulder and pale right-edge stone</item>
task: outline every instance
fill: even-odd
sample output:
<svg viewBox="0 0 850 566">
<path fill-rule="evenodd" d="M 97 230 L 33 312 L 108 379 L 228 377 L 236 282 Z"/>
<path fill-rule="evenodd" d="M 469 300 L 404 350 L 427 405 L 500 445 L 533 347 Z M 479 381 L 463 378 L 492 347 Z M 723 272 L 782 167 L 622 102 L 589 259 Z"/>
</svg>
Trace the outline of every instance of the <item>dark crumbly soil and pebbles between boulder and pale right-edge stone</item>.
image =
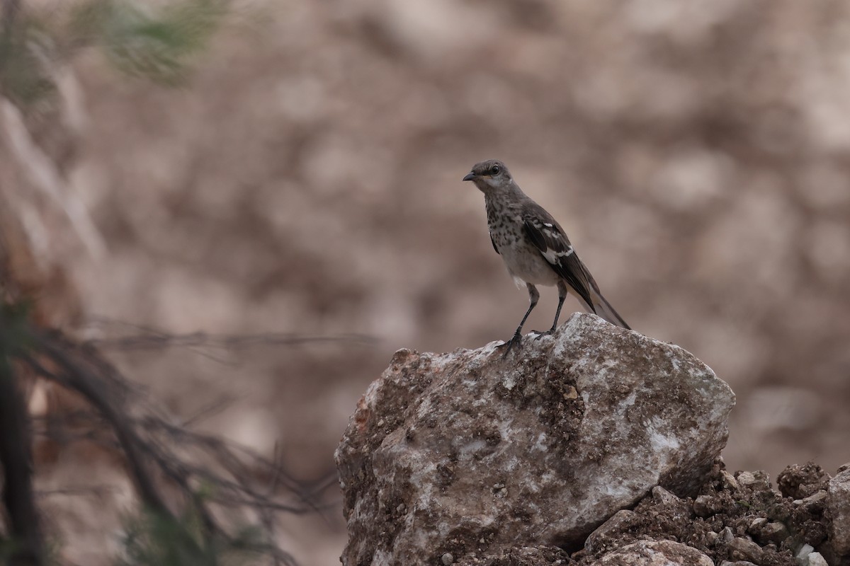
<svg viewBox="0 0 850 566">
<path fill-rule="evenodd" d="M 785 478 L 789 493 L 817 494 L 829 480 L 815 464 L 789 466 L 779 477 Z M 650 539 L 683 542 L 717 564 L 808 566 L 794 558 L 806 546 L 809 552 L 818 549 L 832 556 L 824 509 L 822 504 L 783 496 L 770 485 L 767 474 L 732 475 L 718 462 L 698 496 L 680 499 L 655 488 L 632 510 L 616 513 L 600 525 L 571 558 L 581 566 L 595 566 L 622 546 Z"/>
</svg>

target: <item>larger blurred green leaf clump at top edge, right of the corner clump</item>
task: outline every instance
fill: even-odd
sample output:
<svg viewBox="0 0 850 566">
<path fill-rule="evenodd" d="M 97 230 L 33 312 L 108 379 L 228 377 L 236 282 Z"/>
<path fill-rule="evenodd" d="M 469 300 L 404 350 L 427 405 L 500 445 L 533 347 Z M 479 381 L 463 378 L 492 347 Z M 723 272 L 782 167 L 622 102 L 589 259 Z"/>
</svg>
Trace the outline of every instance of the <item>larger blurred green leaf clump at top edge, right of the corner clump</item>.
<svg viewBox="0 0 850 566">
<path fill-rule="evenodd" d="M 71 27 L 118 69 L 175 85 L 184 81 L 226 8 L 224 0 L 182 0 L 158 10 L 133 0 L 88 0 L 74 11 Z"/>
</svg>

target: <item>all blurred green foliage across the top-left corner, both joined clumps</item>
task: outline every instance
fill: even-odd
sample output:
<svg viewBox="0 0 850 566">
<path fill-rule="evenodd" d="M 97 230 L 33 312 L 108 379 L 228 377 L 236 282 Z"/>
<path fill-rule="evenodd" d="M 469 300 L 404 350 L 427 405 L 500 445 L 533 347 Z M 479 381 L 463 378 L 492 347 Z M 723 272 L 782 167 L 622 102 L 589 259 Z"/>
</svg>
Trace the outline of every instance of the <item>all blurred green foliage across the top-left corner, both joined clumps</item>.
<svg viewBox="0 0 850 566">
<path fill-rule="evenodd" d="M 118 70 L 164 85 L 185 81 L 228 14 L 227 0 L 82 0 L 70 19 L 21 12 L 0 30 L 0 92 L 19 107 L 56 92 L 54 70 L 80 48 L 99 48 Z"/>
</svg>

